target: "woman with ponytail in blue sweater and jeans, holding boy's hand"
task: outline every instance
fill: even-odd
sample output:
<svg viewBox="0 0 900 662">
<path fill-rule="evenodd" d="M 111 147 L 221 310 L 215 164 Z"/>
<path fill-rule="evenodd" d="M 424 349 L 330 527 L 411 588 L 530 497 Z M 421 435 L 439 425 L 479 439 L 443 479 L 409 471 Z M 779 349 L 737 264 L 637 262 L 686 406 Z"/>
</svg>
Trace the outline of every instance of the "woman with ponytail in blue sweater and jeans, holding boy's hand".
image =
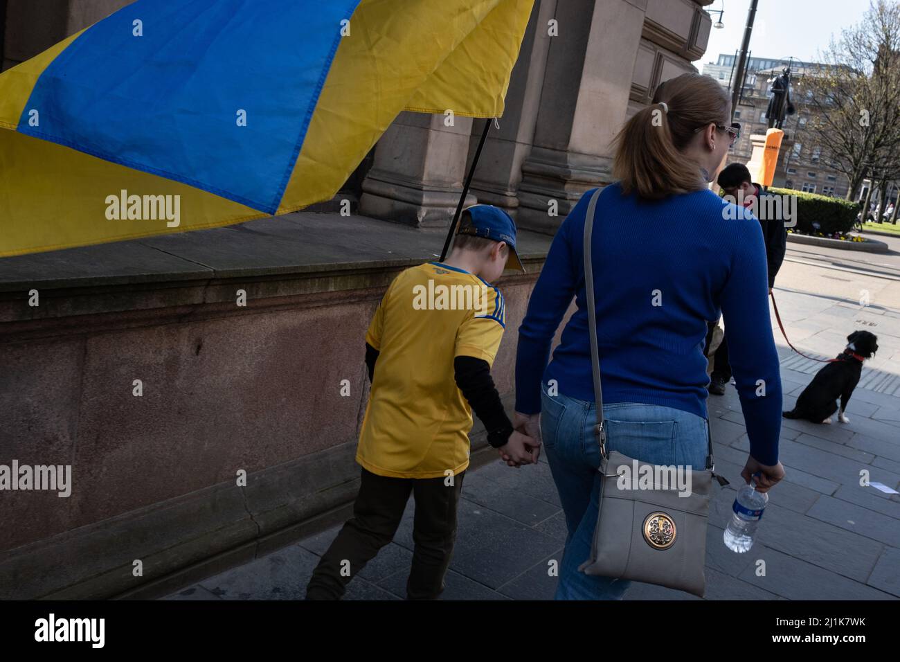
<svg viewBox="0 0 900 662">
<path fill-rule="evenodd" d="M 728 330 L 750 455 L 742 476 L 768 490 L 782 476 L 779 357 L 769 317 L 766 251 L 749 211 L 708 190 L 737 137 L 724 88 L 685 74 L 619 133 L 599 196 L 592 255 L 609 449 L 657 465 L 705 467 L 707 320 Z M 557 231 L 519 327 L 518 430 L 543 437 L 563 503 L 566 540 L 557 600 L 621 599 L 629 582 L 589 576 L 598 516 L 582 237 L 593 190 Z M 563 315 L 577 310 L 547 365 Z M 757 476 L 753 476 L 756 474 Z"/>
</svg>

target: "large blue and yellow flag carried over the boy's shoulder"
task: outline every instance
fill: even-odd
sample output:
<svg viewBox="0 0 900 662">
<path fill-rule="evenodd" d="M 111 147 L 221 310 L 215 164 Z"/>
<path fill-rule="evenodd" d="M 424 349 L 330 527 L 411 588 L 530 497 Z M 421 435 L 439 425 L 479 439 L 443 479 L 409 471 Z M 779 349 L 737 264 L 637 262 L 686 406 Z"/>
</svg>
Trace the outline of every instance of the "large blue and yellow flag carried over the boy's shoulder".
<svg viewBox="0 0 900 662">
<path fill-rule="evenodd" d="M 0 257 L 329 200 L 402 110 L 499 117 L 532 3 L 138 0 L 0 74 Z"/>
</svg>

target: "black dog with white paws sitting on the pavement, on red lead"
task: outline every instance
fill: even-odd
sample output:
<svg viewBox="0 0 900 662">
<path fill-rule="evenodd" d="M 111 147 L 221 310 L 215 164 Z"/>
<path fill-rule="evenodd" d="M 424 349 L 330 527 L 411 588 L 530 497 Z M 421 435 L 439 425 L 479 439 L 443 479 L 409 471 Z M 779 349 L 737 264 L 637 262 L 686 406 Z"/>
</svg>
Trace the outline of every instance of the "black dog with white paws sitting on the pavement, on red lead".
<svg viewBox="0 0 900 662">
<path fill-rule="evenodd" d="M 860 382 L 862 362 L 875 356 L 878 351 L 878 337 L 869 331 L 853 331 L 847 336 L 848 345 L 838 358 L 823 367 L 813 377 L 813 381 L 803 389 L 797 404 L 790 412 L 782 413 L 785 418 L 799 418 L 814 423 L 832 422 L 832 414 L 837 411 L 837 399 L 841 398 L 841 412 L 838 420 L 849 423 L 844 412 L 853 389 Z"/>
</svg>

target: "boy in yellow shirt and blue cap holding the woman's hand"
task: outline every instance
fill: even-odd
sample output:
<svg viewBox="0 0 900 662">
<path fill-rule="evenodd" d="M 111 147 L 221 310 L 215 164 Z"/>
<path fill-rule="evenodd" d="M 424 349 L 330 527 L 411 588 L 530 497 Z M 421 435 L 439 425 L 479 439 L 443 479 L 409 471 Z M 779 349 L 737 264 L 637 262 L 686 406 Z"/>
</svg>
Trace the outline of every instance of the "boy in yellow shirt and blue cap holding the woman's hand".
<svg viewBox="0 0 900 662">
<path fill-rule="evenodd" d="M 415 549 L 407 598 L 437 598 L 453 552 L 473 411 L 509 464 L 537 461 L 540 443 L 513 430 L 491 380 L 506 325 L 503 296 L 491 282 L 508 259 L 522 269 L 515 224 L 498 207 L 476 204 L 464 211 L 446 262 L 408 268 L 388 287 L 365 334 L 372 392 L 356 451 L 363 468 L 354 517 L 313 572 L 308 600 L 344 594 L 393 539 L 410 493 Z"/>
</svg>

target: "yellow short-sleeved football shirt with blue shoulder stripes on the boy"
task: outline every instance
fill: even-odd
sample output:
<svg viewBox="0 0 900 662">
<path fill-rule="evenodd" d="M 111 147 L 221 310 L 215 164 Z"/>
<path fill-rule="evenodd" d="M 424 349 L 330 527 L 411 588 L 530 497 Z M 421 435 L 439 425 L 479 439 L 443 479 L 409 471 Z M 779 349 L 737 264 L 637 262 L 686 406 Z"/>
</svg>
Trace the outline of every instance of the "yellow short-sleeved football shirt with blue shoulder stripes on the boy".
<svg viewBox="0 0 900 662">
<path fill-rule="evenodd" d="M 500 290 L 429 262 L 388 287 L 365 341 L 379 350 L 356 461 L 379 476 L 436 478 L 469 466 L 472 409 L 454 358 L 493 365 L 505 328 Z"/>
</svg>

